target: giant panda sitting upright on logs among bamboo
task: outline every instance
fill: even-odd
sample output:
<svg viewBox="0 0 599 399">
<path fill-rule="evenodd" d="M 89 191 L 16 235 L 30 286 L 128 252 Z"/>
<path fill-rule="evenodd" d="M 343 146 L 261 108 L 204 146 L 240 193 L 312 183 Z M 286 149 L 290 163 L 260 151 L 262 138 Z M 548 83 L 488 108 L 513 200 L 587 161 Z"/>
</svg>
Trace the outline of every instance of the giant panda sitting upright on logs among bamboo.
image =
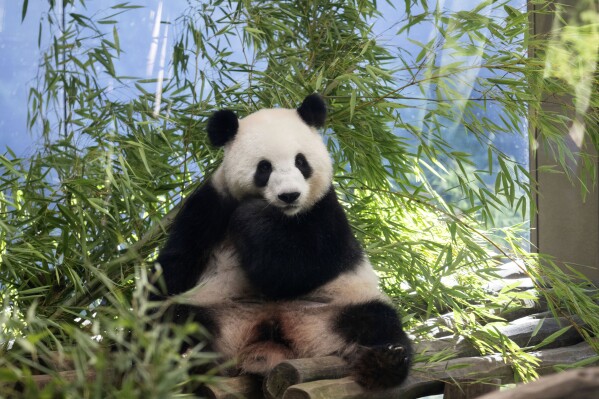
<svg viewBox="0 0 599 399">
<path fill-rule="evenodd" d="M 172 320 L 192 319 L 239 373 L 338 355 L 365 389 L 399 385 L 410 340 L 354 237 L 317 129 L 322 97 L 297 109 L 230 110 L 208 120 L 222 164 L 185 201 L 158 267 Z"/>
</svg>

